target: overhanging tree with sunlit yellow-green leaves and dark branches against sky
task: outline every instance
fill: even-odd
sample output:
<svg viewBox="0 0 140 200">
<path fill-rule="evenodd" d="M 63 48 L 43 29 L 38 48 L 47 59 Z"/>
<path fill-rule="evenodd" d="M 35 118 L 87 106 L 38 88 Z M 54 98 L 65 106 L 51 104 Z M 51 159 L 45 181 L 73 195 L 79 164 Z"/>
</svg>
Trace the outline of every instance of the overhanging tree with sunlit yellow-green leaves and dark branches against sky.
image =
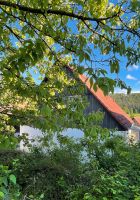
<svg viewBox="0 0 140 200">
<path fill-rule="evenodd" d="M 58 103 L 54 95 L 61 96 L 71 84 L 65 66 L 86 72 L 91 85 L 94 82 L 105 93 L 115 86 L 129 91 L 102 67 L 110 66 L 111 73 L 117 74 L 120 57 L 125 57 L 126 66 L 139 61 L 138 4 L 137 0 L 117 4 L 107 0 L 0 0 L 1 118 L 8 116 L 8 123 L 26 121 L 48 130 L 57 129 L 58 124 L 66 127 L 64 99 Z M 97 62 L 98 68 L 89 67 L 90 62 Z M 82 67 L 85 63 L 86 68 Z M 39 83 L 33 71 L 40 76 Z"/>
</svg>

